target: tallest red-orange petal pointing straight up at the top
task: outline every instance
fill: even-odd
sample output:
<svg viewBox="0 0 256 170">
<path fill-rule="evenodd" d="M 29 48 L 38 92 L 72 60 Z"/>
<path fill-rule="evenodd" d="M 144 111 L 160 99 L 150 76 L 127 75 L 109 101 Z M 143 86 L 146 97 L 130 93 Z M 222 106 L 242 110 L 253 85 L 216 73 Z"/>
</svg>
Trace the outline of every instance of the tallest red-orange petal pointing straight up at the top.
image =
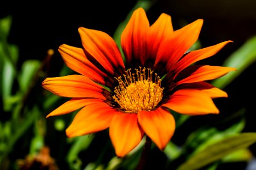
<svg viewBox="0 0 256 170">
<path fill-rule="evenodd" d="M 146 12 L 140 7 L 133 12 L 121 35 L 121 45 L 127 63 L 134 59 L 140 60 L 142 64 L 144 63 L 149 28 L 150 24 L 147 20 Z"/>
</svg>

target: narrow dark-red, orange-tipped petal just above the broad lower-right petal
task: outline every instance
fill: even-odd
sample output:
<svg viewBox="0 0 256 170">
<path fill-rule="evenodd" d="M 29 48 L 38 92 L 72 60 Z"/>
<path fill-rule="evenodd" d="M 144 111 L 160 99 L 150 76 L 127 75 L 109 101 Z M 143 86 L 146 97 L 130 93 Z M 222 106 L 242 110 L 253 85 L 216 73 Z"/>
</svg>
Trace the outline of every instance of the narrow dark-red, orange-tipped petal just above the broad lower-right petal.
<svg viewBox="0 0 256 170">
<path fill-rule="evenodd" d="M 209 84 L 207 82 L 185 83 L 181 84 L 179 88 L 192 88 L 195 90 L 200 90 L 212 99 L 217 97 L 228 97 L 228 94 L 226 94 L 225 91 L 222 91 L 220 90 L 220 88 L 214 87 L 212 84 Z"/>
</svg>

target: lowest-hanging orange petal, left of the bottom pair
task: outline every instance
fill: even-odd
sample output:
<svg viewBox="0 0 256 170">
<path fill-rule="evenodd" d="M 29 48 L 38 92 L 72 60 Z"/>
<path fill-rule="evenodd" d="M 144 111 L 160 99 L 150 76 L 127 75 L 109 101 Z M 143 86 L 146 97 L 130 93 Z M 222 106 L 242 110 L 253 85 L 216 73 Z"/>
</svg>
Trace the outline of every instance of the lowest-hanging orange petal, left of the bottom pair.
<svg viewBox="0 0 256 170">
<path fill-rule="evenodd" d="M 109 135 L 115 154 L 123 157 L 141 142 L 144 132 L 138 125 L 137 114 L 123 113 L 113 118 Z"/>
</svg>

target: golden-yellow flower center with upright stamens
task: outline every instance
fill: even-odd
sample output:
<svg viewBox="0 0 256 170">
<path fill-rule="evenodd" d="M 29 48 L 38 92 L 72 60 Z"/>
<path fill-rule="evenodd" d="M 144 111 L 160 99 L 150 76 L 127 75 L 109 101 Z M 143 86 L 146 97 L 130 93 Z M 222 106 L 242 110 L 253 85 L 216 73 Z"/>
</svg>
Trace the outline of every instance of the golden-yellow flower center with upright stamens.
<svg viewBox="0 0 256 170">
<path fill-rule="evenodd" d="M 163 97 L 161 79 L 151 69 L 131 69 L 126 74 L 116 78 L 119 86 L 115 87 L 113 99 L 120 105 L 125 113 L 138 113 L 138 111 L 151 111 L 158 105 Z"/>
</svg>

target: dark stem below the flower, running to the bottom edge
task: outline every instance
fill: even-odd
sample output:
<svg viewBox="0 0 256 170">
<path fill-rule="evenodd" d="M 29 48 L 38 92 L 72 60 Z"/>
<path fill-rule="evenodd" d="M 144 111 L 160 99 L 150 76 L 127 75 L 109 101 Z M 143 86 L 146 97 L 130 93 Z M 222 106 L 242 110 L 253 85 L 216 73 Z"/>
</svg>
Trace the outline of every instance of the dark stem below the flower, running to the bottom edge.
<svg viewBox="0 0 256 170">
<path fill-rule="evenodd" d="M 143 148 L 141 158 L 139 159 L 139 163 L 138 163 L 138 166 L 137 166 L 136 170 L 142 170 L 144 165 L 146 164 L 148 155 L 150 153 L 151 143 L 152 143 L 151 139 L 147 136 L 146 137 L 146 143 L 145 143 L 145 146 Z"/>
</svg>

